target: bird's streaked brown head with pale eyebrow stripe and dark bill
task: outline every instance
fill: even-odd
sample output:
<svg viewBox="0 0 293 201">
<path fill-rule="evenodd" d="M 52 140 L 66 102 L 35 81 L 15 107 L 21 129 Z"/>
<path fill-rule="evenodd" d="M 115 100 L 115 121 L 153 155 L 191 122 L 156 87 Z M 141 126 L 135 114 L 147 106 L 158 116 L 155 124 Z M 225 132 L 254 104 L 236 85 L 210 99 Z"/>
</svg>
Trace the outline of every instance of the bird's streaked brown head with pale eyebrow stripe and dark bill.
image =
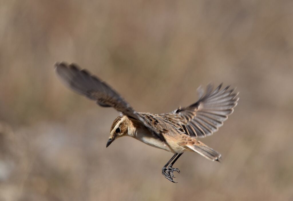
<svg viewBox="0 0 293 201">
<path fill-rule="evenodd" d="M 129 123 L 129 119 L 125 115 L 120 115 L 114 120 L 111 126 L 110 137 L 106 147 L 108 147 L 115 139 L 122 136 L 127 136 L 128 123 Z"/>
</svg>

